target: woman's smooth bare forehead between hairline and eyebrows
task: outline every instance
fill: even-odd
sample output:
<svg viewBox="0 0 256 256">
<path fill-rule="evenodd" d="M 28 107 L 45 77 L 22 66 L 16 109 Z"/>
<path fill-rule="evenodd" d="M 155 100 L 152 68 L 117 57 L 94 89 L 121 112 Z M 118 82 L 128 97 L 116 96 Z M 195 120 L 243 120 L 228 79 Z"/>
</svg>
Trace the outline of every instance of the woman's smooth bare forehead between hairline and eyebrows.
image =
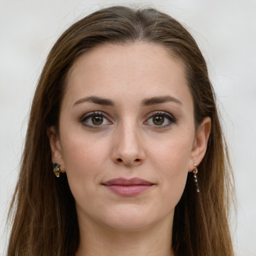
<svg viewBox="0 0 256 256">
<path fill-rule="evenodd" d="M 103 44 L 72 65 L 64 98 L 97 95 L 140 99 L 171 93 L 191 98 L 184 66 L 165 46 L 146 42 Z M 182 97 L 182 96 L 181 96 Z"/>
</svg>

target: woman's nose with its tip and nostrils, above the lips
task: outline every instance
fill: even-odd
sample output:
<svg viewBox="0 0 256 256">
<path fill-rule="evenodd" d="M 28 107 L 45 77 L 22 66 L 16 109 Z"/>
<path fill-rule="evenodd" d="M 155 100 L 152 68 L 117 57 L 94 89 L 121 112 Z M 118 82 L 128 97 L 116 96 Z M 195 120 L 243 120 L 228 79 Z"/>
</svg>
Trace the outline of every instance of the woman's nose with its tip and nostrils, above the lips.
<svg viewBox="0 0 256 256">
<path fill-rule="evenodd" d="M 111 158 L 123 166 L 136 166 L 145 160 L 144 143 L 136 125 L 121 125 L 113 135 Z"/>
</svg>

